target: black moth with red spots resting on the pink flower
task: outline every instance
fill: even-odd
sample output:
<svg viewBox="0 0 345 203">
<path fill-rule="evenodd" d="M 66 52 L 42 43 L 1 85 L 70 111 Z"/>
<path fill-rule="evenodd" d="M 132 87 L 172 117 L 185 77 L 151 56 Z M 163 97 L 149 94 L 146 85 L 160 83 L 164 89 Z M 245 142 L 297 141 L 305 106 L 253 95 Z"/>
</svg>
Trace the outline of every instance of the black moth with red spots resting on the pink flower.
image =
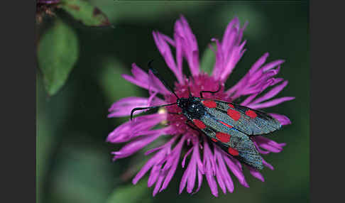
<svg viewBox="0 0 345 203">
<path fill-rule="evenodd" d="M 157 71 L 152 67 L 150 70 L 177 97 L 177 101 L 160 106 L 134 108 L 131 111 L 131 119 L 134 111 L 177 105 L 182 111 L 175 114 L 184 115 L 187 118 L 186 124 L 190 128 L 204 133 L 209 141 L 216 143 L 241 163 L 258 170 L 263 169 L 263 160 L 251 138 L 252 136 L 264 136 L 280 129 L 281 124 L 278 120 L 263 111 L 202 97 L 203 93 L 217 93 L 220 88 L 214 92 L 202 91 L 200 97 L 193 97 L 190 94 L 188 98 L 180 98 Z"/>
</svg>

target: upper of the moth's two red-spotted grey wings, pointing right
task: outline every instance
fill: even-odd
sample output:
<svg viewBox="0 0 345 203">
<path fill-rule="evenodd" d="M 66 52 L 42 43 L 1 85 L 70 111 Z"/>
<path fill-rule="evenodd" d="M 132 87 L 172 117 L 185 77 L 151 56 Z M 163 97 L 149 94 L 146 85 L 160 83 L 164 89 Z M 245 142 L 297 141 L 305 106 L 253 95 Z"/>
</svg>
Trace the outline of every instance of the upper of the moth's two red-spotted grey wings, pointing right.
<svg viewBox="0 0 345 203">
<path fill-rule="evenodd" d="M 278 120 L 263 111 L 226 101 L 201 99 L 208 114 L 248 136 L 264 135 L 281 128 Z"/>
</svg>

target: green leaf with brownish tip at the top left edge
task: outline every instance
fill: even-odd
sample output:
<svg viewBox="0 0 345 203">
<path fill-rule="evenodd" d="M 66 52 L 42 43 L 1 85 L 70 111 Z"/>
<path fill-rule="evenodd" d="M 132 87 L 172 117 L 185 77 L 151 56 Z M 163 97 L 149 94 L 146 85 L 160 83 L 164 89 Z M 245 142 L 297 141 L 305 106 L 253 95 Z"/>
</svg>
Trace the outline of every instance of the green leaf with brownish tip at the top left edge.
<svg viewBox="0 0 345 203">
<path fill-rule="evenodd" d="M 82 0 L 62 0 L 60 8 L 82 21 L 85 26 L 109 26 L 108 17 L 97 7 Z"/>
</svg>

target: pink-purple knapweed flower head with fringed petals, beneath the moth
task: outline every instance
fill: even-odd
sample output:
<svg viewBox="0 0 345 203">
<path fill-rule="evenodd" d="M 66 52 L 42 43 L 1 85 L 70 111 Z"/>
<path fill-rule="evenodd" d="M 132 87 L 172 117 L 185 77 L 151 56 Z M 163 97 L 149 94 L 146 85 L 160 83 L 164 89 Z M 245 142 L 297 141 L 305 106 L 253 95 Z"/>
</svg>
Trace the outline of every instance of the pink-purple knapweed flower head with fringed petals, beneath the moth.
<svg viewBox="0 0 345 203">
<path fill-rule="evenodd" d="M 265 63 L 268 53 L 261 56 L 244 75 L 242 79 L 229 89 L 224 87 L 226 79 L 234 70 L 243 53 L 246 51 L 242 41 L 243 31 L 246 24 L 240 27 L 239 19 L 234 18 L 226 27 L 226 31 L 221 40 L 212 39 L 217 45 L 215 50 L 216 62 L 212 75 L 202 72 L 199 69 L 199 50 L 197 40 L 192 33 L 186 19 L 181 16 L 175 23 L 173 38 L 153 31 L 153 39 L 158 50 L 177 78 L 175 82 L 175 93 L 178 97 L 187 98 L 189 91 L 198 97 L 202 90 L 216 91 L 221 85 L 221 89 L 216 94 L 205 93 L 204 97 L 219 99 L 223 101 L 234 101 L 239 97 L 245 98 L 241 105 L 252 109 L 264 109 L 275 106 L 283 101 L 294 99 L 294 97 L 281 97 L 272 99 L 287 84 L 283 78 L 275 78 L 280 70 L 283 60 L 275 60 Z M 175 48 L 175 56 L 172 55 L 170 47 Z M 182 73 L 182 60 L 187 60 L 191 76 L 187 77 Z M 125 79 L 133 84 L 148 89 L 150 97 L 127 97 L 116 101 L 109 109 L 109 117 L 129 116 L 131 109 L 135 107 L 155 106 L 170 104 L 176 101 L 176 97 L 153 75 L 152 72 L 144 72 L 133 63 L 133 75 L 123 75 Z M 263 91 L 269 89 L 265 93 Z M 163 99 L 158 98 L 158 94 Z M 170 180 L 180 165 L 182 158 L 182 168 L 185 171 L 180 182 L 180 193 L 187 186 L 187 192 L 197 192 L 202 185 L 202 180 L 206 177 L 209 188 L 214 196 L 218 196 L 218 187 L 226 191 L 234 191 L 234 182 L 229 175 L 231 171 L 239 180 L 241 185 L 249 187 L 243 175 L 243 166 L 228 153 L 221 150 L 214 143 L 208 142 L 205 135 L 197 133 L 185 124 L 186 118 L 182 115 L 169 114 L 179 112 L 180 107 L 176 105 L 166 106 L 156 114 L 136 116 L 133 121 L 127 121 L 109 133 L 106 141 L 110 143 L 126 143 L 119 151 L 113 152 L 114 160 L 126 158 L 138 152 L 149 143 L 154 143 L 157 138 L 165 137 L 166 143 L 148 150 L 145 154 L 151 155 L 148 162 L 133 178 L 136 184 L 150 170 L 148 187 L 155 185 L 153 196 L 168 187 Z M 136 114 L 142 111 L 136 111 Z M 270 114 L 278 119 L 282 125 L 290 124 L 288 117 L 280 114 Z M 154 128 L 158 124 L 164 124 L 163 128 Z M 267 137 L 254 136 L 253 142 L 258 152 L 261 154 L 279 153 L 283 150 L 285 143 L 276 143 Z M 183 152 L 182 152 L 182 149 Z M 189 158 L 188 158 L 189 157 Z M 189 160 L 189 161 L 187 161 Z M 273 166 L 263 160 L 265 167 L 273 170 Z M 264 181 L 263 175 L 258 170 L 245 165 L 251 175 Z"/>
</svg>

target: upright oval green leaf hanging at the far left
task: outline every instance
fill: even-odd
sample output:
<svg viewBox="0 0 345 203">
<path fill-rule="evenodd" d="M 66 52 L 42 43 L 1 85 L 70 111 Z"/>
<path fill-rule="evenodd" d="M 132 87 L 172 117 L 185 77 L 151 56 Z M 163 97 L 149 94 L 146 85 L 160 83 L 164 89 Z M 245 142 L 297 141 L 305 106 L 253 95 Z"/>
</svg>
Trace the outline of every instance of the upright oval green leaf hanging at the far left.
<svg viewBox="0 0 345 203">
<path fill-rule="evenodd" d="M 65 84 L 78 52 L 77 35 L 60 20 L 43 35 L 38 44 L 38 66 L 48 94 L 55 94 Z"/>
</svg>

